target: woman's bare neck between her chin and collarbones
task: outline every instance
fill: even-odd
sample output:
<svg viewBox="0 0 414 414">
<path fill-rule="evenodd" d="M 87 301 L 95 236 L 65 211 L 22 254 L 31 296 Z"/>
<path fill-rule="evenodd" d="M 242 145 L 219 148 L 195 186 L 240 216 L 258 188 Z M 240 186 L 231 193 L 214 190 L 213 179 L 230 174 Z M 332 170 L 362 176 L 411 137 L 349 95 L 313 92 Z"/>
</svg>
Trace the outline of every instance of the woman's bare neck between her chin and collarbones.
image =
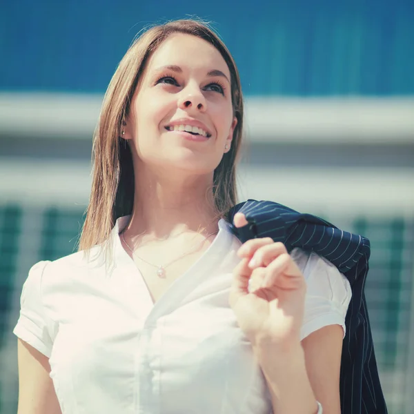
<svg viewBox="0 0 414 414">
<path fill-rule="evenodd" d="M 134 208 L 126 231 L 157 238 L 180 233 L 218 230 L 213 201 L 213 177 L 197 175 L 181 179 L 140 171 L 135 175 Z"/>
</svg>

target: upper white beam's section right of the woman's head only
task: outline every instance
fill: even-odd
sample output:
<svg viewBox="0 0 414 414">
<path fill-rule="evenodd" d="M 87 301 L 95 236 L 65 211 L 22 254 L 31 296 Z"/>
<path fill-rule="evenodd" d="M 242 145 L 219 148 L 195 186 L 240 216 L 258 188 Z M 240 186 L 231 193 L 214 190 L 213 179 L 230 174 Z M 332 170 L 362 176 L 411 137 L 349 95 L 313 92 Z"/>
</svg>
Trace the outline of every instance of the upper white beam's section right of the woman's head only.
<svg viewBox="0 0 414 414">
<path fill-rule="evenodd" d="M 414 97 L 250 98 L 246 132 L 265 141 L 414 144 Z"/>
</svg>

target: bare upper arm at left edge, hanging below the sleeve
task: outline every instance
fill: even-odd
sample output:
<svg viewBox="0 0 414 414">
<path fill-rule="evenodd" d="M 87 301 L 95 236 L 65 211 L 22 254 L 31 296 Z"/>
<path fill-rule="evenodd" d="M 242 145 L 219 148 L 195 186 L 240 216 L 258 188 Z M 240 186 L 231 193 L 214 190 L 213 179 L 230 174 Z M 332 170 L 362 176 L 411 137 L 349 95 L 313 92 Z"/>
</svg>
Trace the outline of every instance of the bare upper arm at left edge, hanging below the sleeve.
<svg viewBox="0 0 414 414">
<path fill-rule="evenodd" d="M 49 376 L 49 359 L 18 339 L 19 408 L 17 414 L 61 414 Z"/>
</svg>

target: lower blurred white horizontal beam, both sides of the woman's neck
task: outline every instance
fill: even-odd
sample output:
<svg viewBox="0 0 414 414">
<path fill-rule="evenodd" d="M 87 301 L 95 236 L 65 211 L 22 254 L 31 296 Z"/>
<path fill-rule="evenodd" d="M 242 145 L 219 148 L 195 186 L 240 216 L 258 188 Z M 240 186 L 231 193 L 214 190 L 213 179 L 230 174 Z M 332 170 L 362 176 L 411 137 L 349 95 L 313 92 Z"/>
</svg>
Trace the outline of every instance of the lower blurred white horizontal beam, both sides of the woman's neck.
<svg viewBox="0 0 414 414">
<path fill-rule="evenodd" d="M 85 208 L 90 163 L 0 158 L 0 204 Z M 414 215 L 414 172 L 403 168 L 260 168 L 242 166 L 240 198 L 270 199 L 330 217 Z"/>
</svg>

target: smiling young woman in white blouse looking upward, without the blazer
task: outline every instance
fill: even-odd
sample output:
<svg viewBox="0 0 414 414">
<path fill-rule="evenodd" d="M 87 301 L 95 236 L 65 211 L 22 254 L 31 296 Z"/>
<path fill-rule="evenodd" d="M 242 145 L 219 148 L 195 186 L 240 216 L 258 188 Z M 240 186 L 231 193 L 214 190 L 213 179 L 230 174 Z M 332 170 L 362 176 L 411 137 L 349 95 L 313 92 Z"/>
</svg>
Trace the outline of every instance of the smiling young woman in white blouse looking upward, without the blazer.
<svg viewBox="0 0 414 414">
<path fill-rule="evenodd" d="M 204 24 L 126 52 L 80 251 L 23 286 L 19 414 L 340 413 L 351 288 L 315 253 L 229 230 L 242 126 L 235 62 Z"/>
</svg>

